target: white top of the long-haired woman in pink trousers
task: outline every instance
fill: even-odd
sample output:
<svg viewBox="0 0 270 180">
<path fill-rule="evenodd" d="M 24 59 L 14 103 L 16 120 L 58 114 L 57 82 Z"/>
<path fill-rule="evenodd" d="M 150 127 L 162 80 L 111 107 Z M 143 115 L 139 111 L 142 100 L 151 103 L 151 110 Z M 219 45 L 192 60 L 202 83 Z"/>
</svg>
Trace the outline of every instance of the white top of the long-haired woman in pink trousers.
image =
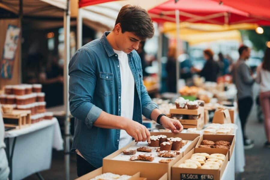
<svg viewBox="0 0 270 180">
<path fill-rule="evenodd" d="M 262 64 L 257 67 L 256 82 L 260 84 L 260 92 L 270 91 L 270 71 L 264 70 Z"/>
</svg>

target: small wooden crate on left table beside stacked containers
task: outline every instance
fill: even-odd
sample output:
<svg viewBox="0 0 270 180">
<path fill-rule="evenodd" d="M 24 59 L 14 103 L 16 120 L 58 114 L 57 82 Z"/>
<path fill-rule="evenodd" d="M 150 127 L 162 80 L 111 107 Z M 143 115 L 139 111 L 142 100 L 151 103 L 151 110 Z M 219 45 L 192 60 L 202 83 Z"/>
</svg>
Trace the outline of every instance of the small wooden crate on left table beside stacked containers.
<svg viewBox="0 0 270 180">
<path fill-rule="evenodd" d="M 20 129 L 31 125 L 31 111 L 30 110 L 13 110 L 12 113 L 3 113 L 4 119 L 18 120 L 18 124 L 6 124 L 6 127 L 15 127 Z"/>
</svg>

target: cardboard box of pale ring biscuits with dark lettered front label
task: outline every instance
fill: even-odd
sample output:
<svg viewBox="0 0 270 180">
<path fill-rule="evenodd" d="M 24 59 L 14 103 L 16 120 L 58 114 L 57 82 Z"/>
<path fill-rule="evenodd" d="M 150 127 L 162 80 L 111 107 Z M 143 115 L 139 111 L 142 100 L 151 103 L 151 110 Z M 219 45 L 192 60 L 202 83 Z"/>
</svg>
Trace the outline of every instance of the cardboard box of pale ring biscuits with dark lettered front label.
<svg viewBox="0 0 270 180">
<path fill-rule="evenodd" d="M 191 156 L 194 153 L 197 153 L 197 149 L 192 149 L 190 152 L 188 152 L 180 161 L 178 161 L 176 164 L 172 167 L 172 180 L 186 180 L 186 179 L 205 179 L 205 180 L 220 180 L 222 177 L 222 174 L 228 164 L 228 152 L 220 153 L 226 155 L 225 160 L 223 161 L 223 164 L 221 165 L 219 170 L 206 170 L 206 169 L 190 169 L 190 168 L 180 168 L 178 167 L 179 164 L 184 163 L 185 160 L 190 159 Z M 211 151 L 211 149 L 205 149 L 205 153 L 213 154 L 213 153 L 219 153 Z M 233 172 L 234 173 L 234 172 Z"/>
</svg>

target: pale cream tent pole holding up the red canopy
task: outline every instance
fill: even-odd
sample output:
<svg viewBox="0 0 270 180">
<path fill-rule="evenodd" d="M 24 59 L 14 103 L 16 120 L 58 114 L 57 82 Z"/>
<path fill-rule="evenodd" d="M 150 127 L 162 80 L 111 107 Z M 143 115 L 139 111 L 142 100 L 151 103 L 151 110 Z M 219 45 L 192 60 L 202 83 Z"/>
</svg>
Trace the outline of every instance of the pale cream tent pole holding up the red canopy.
<svg viewBox="0 0 270 180">
<path fill-rule="evenodd" d="M 178 56 L 180 55 L 180 18 L 179 18 L 179 10 L 175 10 L 176 17 L 176 93 L 178 93 L 179 89 L 179 78 L 180 78 L 180 64 L 178 61 Z"/>
</svg>

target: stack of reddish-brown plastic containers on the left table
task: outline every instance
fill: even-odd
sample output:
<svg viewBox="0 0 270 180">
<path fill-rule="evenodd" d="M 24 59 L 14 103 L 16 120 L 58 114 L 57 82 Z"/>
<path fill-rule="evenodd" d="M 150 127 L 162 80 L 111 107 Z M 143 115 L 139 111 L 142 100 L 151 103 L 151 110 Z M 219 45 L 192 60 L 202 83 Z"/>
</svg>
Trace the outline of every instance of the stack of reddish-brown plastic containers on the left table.
<svg viewBox="0 0 270 180">
<path fill-rule="evenodd" d="M 52 119 L 53 113 L 46 112 L 45 93 L 41 89 L 41 84 L 6 85 L 0 102 L 13 105 L 13 109 L 31 110 L 32 124 Z"/>
</svg>

